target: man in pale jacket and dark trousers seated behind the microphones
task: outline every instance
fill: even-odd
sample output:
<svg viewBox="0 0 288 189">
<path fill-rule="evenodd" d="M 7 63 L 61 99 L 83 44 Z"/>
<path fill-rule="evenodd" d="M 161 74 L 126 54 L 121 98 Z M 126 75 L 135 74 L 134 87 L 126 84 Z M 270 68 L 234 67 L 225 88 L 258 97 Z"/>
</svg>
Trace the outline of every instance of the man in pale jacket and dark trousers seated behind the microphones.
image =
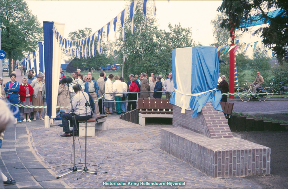
<svg viewBox="0 0 288 189">
<path fill-rule="evenodd" d="M 84 92 L 84 96 L 83 93 L 81 92 L 81 88 L 78 84 L 73 86 L 73 90 L 76 93 L 73 96 L 72 99 L 72 106 L 74 108 L 74 113 L 75 113 L 75 119 L 76 121 L 80 120 L 80 121 L 85 121 L 86 117 L 87 119 L 91 118 L 91 109 L 89 106 L 87 106 L 87 115 L 86 115 L 86 109 L 85 109 L 85 97 L 88 100 L 89 96 L 87 93 Z M 72 107 L 71 104 L 68 108 L 68 111 L 65 113 L 62 113 L 62 124 L 63 124 L 63 131 L 65 132 L 64 134 L 60 135 L 62 137 L 70 137 L 73 135 L 73 133 L 70 133 L 70 129 L 69 129 L 69 122 L 68 120 L 70 120 L 70 126 L 72 126 L 72 124 L 74 123 L 74 120 L 72 120 Z M 77 125 L 75 125 L 74 127 L 74 132 L 75 134 L 77 134 Z"/>
</svg>

